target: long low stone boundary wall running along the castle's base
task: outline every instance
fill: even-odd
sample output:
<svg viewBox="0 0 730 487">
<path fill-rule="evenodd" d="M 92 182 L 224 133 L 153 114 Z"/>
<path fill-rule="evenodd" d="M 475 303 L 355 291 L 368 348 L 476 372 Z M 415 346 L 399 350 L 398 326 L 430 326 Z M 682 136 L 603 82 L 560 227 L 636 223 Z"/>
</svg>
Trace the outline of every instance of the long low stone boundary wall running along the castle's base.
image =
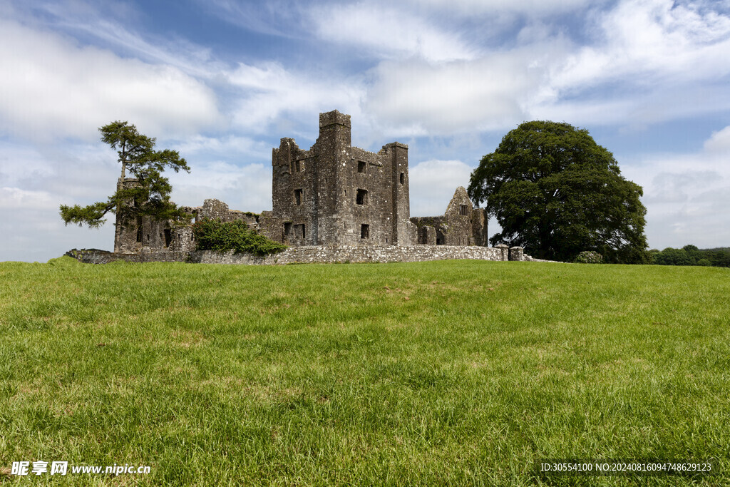
<svg viewBox="0 0 730 487">
<path fill-rule="evenodd" d="M 127 262 L 191 262 L 196 264 L 334 264 L 347 262 L 420 262 L 441 261 L 455 258 L 480 261 L 507 261 L 519 256 L 519 260 L 531 260 L 514 248 L 457 247 L 452 245 L 349 245 L 338 247 L 304 246 L 290 247 L 283 252 L 261 257 L 250 253 L 215 252 L 194 250 L 193 252 L 112 253 L 106 250 L 71 250 L 67 256 L 86 264 L 108 264 L 113 261 Z"/>
</svg>

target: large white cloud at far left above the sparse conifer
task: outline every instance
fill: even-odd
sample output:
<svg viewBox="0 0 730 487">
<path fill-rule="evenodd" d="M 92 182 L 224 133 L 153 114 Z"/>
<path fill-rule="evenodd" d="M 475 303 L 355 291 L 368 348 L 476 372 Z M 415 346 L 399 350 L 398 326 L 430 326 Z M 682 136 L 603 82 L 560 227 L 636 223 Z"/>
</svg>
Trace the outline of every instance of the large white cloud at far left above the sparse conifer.
<svg viewBox="0 0 730 487">
<path fill-rule="evenodd" d="M 180 69 L 18 23 L 0 22 L 0 64 L 0 130 L 27 139 L 96 139 L 118 119 L 155 135 L 220 123 L 215 94 Z"/>
</svg>

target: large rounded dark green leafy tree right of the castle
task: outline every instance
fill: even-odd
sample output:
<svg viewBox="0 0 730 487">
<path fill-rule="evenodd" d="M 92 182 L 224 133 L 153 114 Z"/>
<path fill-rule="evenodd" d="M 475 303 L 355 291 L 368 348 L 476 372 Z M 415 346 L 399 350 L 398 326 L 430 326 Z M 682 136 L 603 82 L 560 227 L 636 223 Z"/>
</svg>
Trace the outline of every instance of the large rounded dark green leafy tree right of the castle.
<svg viewBox="0 0 730 487">
<path fill-rule="evenodd" d="M 502 226 L 491 245 L 558 261 L 595 250 L 608 262 L 648 262 L 642 188 L 584 129 L 522 123 L 482 158 L 468 191 Z"/>
</svg>

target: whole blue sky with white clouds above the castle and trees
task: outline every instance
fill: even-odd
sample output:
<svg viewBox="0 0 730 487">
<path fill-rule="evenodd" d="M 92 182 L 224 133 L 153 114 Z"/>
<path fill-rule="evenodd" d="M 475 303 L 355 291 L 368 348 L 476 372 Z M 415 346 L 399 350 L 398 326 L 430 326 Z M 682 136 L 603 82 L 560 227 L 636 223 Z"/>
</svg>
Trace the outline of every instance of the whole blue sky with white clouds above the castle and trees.
<svg viewBox="0 0 730 487">
<path fill-rule="evenodd" d="M 112 247 L 58 217 L 114 190 L 112 120 L 188 160 L 177 203 L 258 212 L 272 147 L 330 110 L 353 145 L 409 145 L 413 216 L 556 120 L 642 185 L 650 247 L 730 245 L 728 0 L 0 0 L 0 66 L 0 261 Z"/>
</svg>

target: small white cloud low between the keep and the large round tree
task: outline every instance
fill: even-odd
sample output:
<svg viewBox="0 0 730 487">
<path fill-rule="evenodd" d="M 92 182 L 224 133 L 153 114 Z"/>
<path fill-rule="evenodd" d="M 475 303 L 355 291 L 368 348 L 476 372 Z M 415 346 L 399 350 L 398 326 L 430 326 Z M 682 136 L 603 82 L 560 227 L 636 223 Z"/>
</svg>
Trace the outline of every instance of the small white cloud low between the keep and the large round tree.
<svg viewBox="0 0 730 487">
<path fill-rule="evenodd" d="M 472 168 L 461 161 L 424 161 L 409 169 L 412 216 L 443 215 L 458 186 L 466 188 Z"/>
</svg>

